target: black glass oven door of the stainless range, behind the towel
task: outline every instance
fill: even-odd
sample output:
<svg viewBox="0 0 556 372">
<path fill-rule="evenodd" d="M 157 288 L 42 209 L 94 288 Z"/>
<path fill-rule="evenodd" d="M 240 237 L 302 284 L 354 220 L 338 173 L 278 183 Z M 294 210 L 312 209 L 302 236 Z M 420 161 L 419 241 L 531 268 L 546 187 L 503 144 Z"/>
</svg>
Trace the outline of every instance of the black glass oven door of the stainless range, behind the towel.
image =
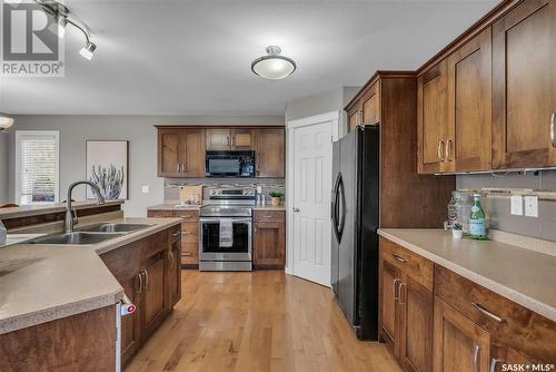
<svg viewBox="0 0 556 372">
<path fill-rule="evenodd" d="M 201 261 L 251 261 L 252 221 L 229 217 L 232 225 L 232 244 L 220 246 L 220 219 L 224 217 L 201 217 L 199 258 Z"/>
</svg>

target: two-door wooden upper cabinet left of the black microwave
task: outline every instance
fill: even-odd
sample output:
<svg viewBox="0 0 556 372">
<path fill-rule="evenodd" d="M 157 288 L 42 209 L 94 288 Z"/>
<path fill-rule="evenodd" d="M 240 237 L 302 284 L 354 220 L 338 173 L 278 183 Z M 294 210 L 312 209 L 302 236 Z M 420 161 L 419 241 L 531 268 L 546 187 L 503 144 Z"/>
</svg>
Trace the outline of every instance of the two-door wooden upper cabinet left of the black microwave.
<svg viewBox="0 0 556 372">
<path fill-rule="evenodd" d="M 203 177 L 205 130 L 198 128 L 159 129 L 158 176 Z"/>
</svg>

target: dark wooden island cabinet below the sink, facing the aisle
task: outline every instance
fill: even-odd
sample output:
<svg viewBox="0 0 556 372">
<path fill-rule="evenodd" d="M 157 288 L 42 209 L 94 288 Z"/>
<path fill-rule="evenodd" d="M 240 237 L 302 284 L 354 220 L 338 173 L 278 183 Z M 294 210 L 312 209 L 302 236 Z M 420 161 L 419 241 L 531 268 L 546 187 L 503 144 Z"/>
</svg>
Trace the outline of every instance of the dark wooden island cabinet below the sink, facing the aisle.
<svg viewBox="0 0 556 372">
<path fill-rule="evenodd" d="M 100 257 L 137 306 L 121 323 L 125 366 L 181 297 L 180 226 L 102 254 Z"/>
</svg>

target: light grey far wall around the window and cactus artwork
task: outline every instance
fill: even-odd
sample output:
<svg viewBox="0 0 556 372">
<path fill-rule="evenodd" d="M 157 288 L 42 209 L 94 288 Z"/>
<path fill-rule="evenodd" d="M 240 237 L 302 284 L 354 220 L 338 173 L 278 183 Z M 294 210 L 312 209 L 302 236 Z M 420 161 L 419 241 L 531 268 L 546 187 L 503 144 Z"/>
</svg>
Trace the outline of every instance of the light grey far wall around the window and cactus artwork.
<svg viewBox="0 0 556 372">
<path fill-rule="evenodd" d="M 8 146 L 8 179 L 3 198 L 14 199 L 16 130 L 60 130 L 60 199 L 66 199 L 68 186 L 86 178 L 85 143 L 87 139 L 129 140 L 129 200 L 126 216 L 145 216 L 146 207 L 163 200 L 163 178 L 157 177 L 157 124 L 284 124 L 281 116 L 267 117 L 150 117 L 150 116 L 17 116 L 10 128 Z M 2 143 L 0 137 L 0 151 Z M 0 154 L 1 156 L 1 154 Z M 0 161 L 0 183 L 2 165 Z M 1 184 L 0 184 L 1 186 Z M 142 194 L 141 186 L 150 193 Z M 85 186 L 75 190 L 75 199 L 85 198 Z"/>
</svg>

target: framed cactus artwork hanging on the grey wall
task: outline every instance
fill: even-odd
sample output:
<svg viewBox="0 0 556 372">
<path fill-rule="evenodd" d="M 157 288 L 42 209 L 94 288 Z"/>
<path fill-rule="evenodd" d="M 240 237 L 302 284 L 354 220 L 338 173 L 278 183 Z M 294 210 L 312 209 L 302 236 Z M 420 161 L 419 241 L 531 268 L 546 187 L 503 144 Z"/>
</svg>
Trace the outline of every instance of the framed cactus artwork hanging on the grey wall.
<svg viewBox="0 0 556 372">
<path fill-rule="evenodd" d="M 99 186 L 109 199 L 128 198 L 129 143 L 127 140 L 87 140 L 87 179 Z M 87 198 L 95 194 L 87 186 Z"/>
</svg>

